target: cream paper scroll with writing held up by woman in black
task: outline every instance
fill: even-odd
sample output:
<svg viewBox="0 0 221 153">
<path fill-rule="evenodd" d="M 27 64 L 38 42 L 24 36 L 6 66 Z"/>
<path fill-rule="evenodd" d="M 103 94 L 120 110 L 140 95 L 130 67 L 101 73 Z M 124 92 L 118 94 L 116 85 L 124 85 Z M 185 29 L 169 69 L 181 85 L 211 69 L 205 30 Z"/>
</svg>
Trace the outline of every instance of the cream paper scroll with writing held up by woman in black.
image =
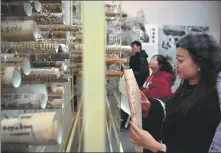
<svg viewBox="0 0 221 153">
<path fill-rule="evenodd" d="M 131 120 L 142 129 L 141 94 L 132 69 L 124 70 Z M 143 152 L 143 147 L 135 145 L 135 152 Z"/>
</svg>

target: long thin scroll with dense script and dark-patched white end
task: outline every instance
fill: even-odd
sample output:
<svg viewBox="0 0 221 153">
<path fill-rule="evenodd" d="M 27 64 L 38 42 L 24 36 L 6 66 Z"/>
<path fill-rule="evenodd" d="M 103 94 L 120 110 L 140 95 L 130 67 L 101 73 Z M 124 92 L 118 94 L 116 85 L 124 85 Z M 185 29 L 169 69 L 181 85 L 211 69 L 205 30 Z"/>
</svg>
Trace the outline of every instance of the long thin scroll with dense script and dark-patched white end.
<svg viewBox="0 0 221 153">
<path fill-rule="evenodd" d="M 2 53 L 8 51 L 17 53 L 57 53 L 67 52 L 67 46 L 51 41 L 2 42 L 1 51 Z"/>
</svg>

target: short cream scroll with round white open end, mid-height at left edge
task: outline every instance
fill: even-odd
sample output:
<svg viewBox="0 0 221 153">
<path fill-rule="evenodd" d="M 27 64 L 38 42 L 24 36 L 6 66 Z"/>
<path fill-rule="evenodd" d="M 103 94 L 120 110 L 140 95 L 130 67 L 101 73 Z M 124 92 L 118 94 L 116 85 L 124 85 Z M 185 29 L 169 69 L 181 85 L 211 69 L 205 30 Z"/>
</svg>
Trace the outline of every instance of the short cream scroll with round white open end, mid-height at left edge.
<svg viewBox="0 0 221 153">
<path fill-rule="evenodd" d="M 1 67 L 1 84 L 3 87 L 18 88 L 21 84 L 21 73 L 16 67 Z"/>
</svg>

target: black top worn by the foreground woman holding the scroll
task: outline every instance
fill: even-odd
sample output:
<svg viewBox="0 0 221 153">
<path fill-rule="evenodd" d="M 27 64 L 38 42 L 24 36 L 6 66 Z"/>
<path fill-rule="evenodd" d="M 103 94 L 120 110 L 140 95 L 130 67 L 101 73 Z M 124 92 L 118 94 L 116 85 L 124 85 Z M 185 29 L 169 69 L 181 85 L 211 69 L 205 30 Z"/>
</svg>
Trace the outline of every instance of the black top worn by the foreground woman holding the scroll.
<svg viewBox="0 0 221 153">
<path fill-rule="evenodd" d="M 163 111 L 160 103 L 150 100 L 149 117 L 144 129 L 167 146 L 167 153 L 208 153 L 220 122 L 220 106 L 216 90 L 205 95 L 185 115 L 169 114 L 160 136 Z M 177 101 L 179 102 L 179 100 Z M 166 106 L 167 108 L 167 106 Z M 150 152 L 144 150 L 144 152 Z"/>
</svg>

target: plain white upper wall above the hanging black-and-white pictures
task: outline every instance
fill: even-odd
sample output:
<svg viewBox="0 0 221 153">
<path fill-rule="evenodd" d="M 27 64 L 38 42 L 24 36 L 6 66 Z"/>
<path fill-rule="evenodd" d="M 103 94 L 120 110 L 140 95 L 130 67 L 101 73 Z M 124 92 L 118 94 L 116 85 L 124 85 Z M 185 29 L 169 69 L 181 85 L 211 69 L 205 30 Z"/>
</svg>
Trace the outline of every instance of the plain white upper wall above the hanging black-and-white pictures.
<svg viewBox="0 0 221 153">
<path fill-rule="evenodd" d="M 122 1 L 122 9 L 130 16 L 143 9 L 150 24 L 209 26 L 220 40 L 221 1 Z"/>
</svg>

